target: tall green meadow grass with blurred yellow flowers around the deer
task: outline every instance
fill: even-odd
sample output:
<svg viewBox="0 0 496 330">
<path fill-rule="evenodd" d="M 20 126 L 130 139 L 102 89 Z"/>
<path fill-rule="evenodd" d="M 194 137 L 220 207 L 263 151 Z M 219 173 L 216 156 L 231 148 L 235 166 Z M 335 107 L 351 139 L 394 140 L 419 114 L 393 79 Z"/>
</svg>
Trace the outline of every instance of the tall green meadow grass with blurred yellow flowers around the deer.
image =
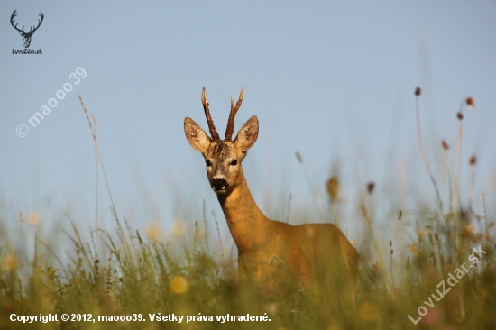
<svg viewBox="0 0 496 330">
<path fill-rule="evenodd" d="M 465 103 L 470 105 L 468 99 Z M 459 123 L 461 138 L 463 120 Z M 482 192 L 470 194 L 482 196 L 480 212 L 472 209 L 472 200 L 459 200 L 460 170 L 476 167 L 475 158 L 459 160 L 459 148 L 460 140 L 453 148 L 453 185 L 444 206 L 439 197 L 408 214 L 398 207 L 390 233 L 381 234 L 374 224 L 390 216 L 377 215 L 371 199 L 357 206 L 363 233 L 354 237 L 363 240 L 354 242 L 361 255 L 354 310 L 326 304 L 335 299 L 332 293 L 328 300 L 311 292 L 267 294 L 240 283 L 235 247 L 224 247 L 220 233 L 207 229 L 207 223 L 218 228 L 224 215 L 217 220 L 204 212 L 202 221 L 190 219 L 195 225 L 189 230 L 179 225 L 172 235 L 181 239 L 169 242 L 159 237 L 158 227 L 140 233 L 117 212 L 114 232 L 97 230 L 85 238 L 74 215 L 67 214 L 70 244 L 60 246 L 49 234 L 36 234 L 34 256 L 28 258 L 15 252 L 17 232 L 5 229 L 6 223 L 37 224 L 39 215 L 21 213 L 19 219 L 0 215 L 0 328 L 495 329 L 495 208 Z M 335 215 L 341 207 L 339 182 L 333 178 L 327 185 Z M 437 191 L 436 180 L 433 184 Z M 366 189 L 372 196 L 373 185 L 363 183 Z M 280 213 L 287 207 L 280 206 Z M 105 244 L 98 255 L 96 239 Z M 57 321 L 44 323 L 49 315 L 57 315 Z M 23 316 L 41 321 L 29 323 L 33 318 Z"/>
</svg>

